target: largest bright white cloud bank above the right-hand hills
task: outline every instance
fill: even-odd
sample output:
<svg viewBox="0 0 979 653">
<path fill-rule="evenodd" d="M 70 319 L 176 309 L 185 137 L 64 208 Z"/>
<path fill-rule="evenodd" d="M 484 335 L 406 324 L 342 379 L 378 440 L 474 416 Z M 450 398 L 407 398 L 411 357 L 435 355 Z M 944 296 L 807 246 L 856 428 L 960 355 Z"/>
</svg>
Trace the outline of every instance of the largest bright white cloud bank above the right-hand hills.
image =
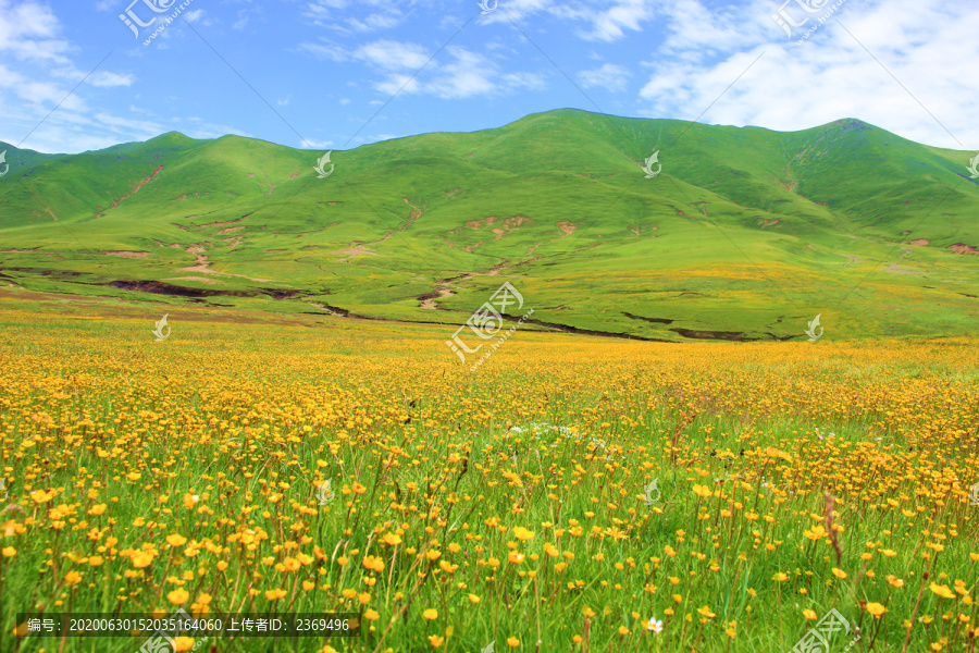
<svg viewBox="0 0 979 653">
<path fill-rule="evenodd" d="M 672 34 L 649 52 L 640 113 L 693 120 L 716 100 L 702 122 L 795 131 L 858 118 L 929 145 L 979 146 L 979 123 L 962 110 L 979 106 L 979 88 L 964 82 L 979 61 L 979 7 L 848 0 L 800 46 L 771 20 L 779 5 L 723 13 L 672 3 Z"/>
</svg>

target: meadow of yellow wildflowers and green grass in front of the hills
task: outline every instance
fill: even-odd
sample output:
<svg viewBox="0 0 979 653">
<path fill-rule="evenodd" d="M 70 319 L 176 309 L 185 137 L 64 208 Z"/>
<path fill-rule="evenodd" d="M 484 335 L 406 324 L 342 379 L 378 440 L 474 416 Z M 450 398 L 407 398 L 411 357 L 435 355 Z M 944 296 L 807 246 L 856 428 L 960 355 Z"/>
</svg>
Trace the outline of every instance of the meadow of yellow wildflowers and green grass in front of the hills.
<svg viewBox="0 0 979 653">
<path fill-rule="evenodd" d="M 0 318 L 4 652 L 178 607 L 361 626 L 178 651 L 977 648 L 975 342 L 521 330 L 470 372 L 439 326 Z"/>
</svg>

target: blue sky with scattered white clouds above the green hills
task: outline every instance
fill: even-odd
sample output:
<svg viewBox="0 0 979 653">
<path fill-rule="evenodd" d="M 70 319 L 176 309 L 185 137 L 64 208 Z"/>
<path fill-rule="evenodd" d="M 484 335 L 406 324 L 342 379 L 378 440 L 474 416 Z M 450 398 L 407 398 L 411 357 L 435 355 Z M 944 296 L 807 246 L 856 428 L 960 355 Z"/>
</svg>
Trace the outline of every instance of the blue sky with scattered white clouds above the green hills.
<svg viewBox="0 0 979 653">
<path fill-rule="evenodd" d="M 0 140 L 78 152 L 178 131 L 347 149 L 573 107 L 780 131 L 858 118 L 979 148 L 972 0 L 131 3 L 0 0 Z M 127 9 L 159 17 L 137 37 Z M 791 37 L 780 10 L 805 21 Z"/>
</svg>

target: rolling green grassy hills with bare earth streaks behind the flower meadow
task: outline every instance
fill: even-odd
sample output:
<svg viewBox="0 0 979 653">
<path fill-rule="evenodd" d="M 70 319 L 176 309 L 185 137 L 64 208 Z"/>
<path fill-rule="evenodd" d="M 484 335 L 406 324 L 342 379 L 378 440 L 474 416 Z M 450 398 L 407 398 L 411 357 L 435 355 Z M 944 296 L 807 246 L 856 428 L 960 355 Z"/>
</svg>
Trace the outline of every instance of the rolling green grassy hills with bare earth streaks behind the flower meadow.
<svg viewBox="0 0 979 653">
<path fill-rule="evenodd" d="M 2 149 L 0 279 L 29 291 L 461 324 L 510 281 L 529 328 L 674 341 L 804 340 L 817 313 L 831 337 L 976 318 L 971 153 L 853 119 L 780 133 L 558 110 L 333 151 L 325 178 L 324 152 L 238 136 Z"/>
</svg>

